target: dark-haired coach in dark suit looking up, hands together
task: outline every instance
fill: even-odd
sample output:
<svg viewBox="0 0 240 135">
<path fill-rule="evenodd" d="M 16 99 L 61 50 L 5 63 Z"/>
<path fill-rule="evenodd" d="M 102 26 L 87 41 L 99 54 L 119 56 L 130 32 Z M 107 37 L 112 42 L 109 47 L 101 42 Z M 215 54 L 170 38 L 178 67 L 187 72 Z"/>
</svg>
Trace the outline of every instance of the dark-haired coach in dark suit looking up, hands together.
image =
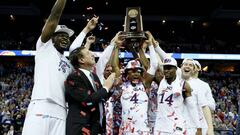
<svg viewBox="0 0 240 135">
<path fill-rule="evenodd" d="M 69 59 L 75 71 L 65 82 L 65 97 L 69 106 L 66 135 L 104 134 L 103 101 L 108 98 L 115 73 L 112 73 L 101 85 L 96 74 L 91 72 L 95 58 L 92 52 L 84 47 L 72 51 Z"/>
</svg>

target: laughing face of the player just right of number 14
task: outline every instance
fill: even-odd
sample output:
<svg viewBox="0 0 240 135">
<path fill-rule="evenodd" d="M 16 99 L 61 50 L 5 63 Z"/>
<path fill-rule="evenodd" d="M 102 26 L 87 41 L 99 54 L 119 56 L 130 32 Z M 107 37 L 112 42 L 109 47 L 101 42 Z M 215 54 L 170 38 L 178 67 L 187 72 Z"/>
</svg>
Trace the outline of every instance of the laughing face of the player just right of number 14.
<svg viewBox="0 0 240 135">
<path fill-rule="evenodd" d="M 182 78 L 183 79 L 189 79 L 193 74 L 195 70 L 195 65 L 193 63 L 192 59 L 187 59 L 183 62 L 181 66 L 182 71 Z"/>
</svg>

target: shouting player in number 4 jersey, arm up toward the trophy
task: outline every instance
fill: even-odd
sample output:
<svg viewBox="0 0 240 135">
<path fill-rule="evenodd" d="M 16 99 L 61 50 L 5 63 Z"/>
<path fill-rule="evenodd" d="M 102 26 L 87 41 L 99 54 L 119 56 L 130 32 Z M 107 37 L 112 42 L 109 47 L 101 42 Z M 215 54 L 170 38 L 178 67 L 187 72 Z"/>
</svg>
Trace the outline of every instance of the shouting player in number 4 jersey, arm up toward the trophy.
<svg viewBox="0 0 240 135">
<path fill-rule="evenodd" d="M 124 71 L 126 81 L 113 94 L 115 100 L 117 97 L 120 98 L 122 106 L 122 122 L 119 134 L 150 134 L 147 113 L 149 101 L 148 89 L 151 87 L 158 66 L 151 38 L 151 35 L 148 34 L 148 40 L 145 41 L 150 50 L 150 68 L 147 70 L 147 73 L 143 72 L 144 70 L 138 60 L 129 61 Z"/>
</svg>

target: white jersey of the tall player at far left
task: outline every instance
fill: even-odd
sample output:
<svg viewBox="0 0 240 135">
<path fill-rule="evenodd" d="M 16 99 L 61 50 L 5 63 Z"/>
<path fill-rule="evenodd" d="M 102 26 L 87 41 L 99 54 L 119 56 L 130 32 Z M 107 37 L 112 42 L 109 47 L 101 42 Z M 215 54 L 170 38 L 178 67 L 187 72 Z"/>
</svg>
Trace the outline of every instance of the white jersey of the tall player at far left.
<svg viewBox="0 0 240 135">
<path fill-rule="evenodd" d="M 65 108 L 64 81 L 72 72 L 69 60 L 60 54 L 53 46 L 52 40 L 46 43 L 37 41 L 35 55 L 34 87 L 31 100 L 47 100 Z M 49 109 L 39 110 L 39 113 L 61 115 Z M 64 116 L 63 116 L 64 117 Z"/>
</svg>

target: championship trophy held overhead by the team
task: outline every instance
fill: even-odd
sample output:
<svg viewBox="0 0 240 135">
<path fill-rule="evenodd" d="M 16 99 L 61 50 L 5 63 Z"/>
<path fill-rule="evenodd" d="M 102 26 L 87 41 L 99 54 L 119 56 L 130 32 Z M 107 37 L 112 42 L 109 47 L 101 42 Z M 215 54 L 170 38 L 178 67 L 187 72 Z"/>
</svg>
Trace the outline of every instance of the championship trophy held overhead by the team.
<svg viewBox="0 0 240 135">
<path fill-rule="evenodd" d="M 124 33 L 126 36 L 126 49 L 135 49 L 138 52 L 141 40 L 146 39 L 140 7 L 127 7 Z"/>
</svg>

